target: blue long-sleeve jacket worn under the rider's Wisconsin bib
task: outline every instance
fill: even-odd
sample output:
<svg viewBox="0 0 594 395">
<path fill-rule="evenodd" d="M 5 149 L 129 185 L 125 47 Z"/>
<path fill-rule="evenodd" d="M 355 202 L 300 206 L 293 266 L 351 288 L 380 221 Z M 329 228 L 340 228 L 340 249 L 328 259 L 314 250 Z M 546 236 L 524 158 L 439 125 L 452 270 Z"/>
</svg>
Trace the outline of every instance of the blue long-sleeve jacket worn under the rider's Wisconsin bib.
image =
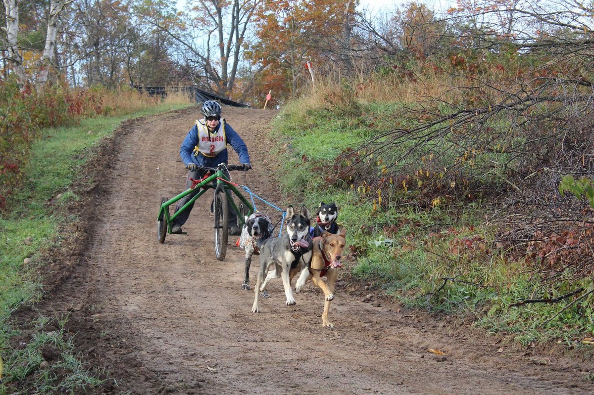
<svg viewBox="0 0 594 395">
<path fill-rule="evenodd" d="M 222 119 L 222 122 L 224 121 L 225 120 Z M 219 125 L 217 125 L 215 129 L 216 131 L 220 129 L 222 122 L 219 122 Z M 249 163 L 248 147 L 229 123 L 225 123 L 225 135 L 227 144 L 231 145 L 233 150 L 237 152 L 239 163 Z M 182 145 L 179 148 L 179 156 L 181 156 L 182 161 L 184 161 L 186 166 L 190 163 L 195 163 L 198 166 L 215 167 L 220 163 L 228 163 L 229 154 L 227 149 L 223 149 L 223 151 L 219 152 L 215 157 L 209 158 L 200 153 L 194 156 L 193 151 L 196 145 L 198 145 L 198 126 L 194 124 L 194 127 L 189 130 L 188 134 L 185 136 L 184 142 L 182 142 Z"/>
</svg>

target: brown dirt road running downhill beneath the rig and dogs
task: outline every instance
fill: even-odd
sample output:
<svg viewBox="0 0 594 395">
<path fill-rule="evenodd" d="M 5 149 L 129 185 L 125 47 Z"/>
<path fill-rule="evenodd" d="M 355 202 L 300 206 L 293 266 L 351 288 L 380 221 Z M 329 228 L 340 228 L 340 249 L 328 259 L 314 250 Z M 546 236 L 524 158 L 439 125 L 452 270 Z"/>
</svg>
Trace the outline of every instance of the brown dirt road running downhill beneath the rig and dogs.
<svg viewBox="0 0 594 395">
<path fill-rule="evenodd" d="M 514 351 L 440 318 L 400 310 L 378 289 L 341 279 L 321 326 L 323 294 L 308 283 L 285 305 L 282 282 L 252 314 L 241 289 L 244 255 L 230 242 L 214 259 L 211 214 L 203 200 L 188 235 L 156 238 L 162 196 L 181 192 L 179 145 L 198 116 L 183 110 L 128 123 L 116 133 L 87 186 L 88 227 L 43 310 L 70 311 L 69 330 L 89 365 L 132 394 L 592 394 L 586 364 L 537 349 Z M 254 170 L 233 179 L 286 207 L 265 165 L 273 112 L 224 107 L 243 136 Z M 236 155 L 230 154 L 231 163 Z M 239 173 L 239 174 L 238 174 Z M 202 204 L 201 204 L 202 203 Z M 263 208 L 258 206 L 258 208 Z M 235 241 L 235 238 L 233 239 Z M 55 265 L 59 265 L 56 262 Z M 257 258 L 252 265 L 252 284 Z M 368 297 L 368 295 L 371 295 Z M 445 355 L 428 352 L 439 349 Z"/>
</svg>

